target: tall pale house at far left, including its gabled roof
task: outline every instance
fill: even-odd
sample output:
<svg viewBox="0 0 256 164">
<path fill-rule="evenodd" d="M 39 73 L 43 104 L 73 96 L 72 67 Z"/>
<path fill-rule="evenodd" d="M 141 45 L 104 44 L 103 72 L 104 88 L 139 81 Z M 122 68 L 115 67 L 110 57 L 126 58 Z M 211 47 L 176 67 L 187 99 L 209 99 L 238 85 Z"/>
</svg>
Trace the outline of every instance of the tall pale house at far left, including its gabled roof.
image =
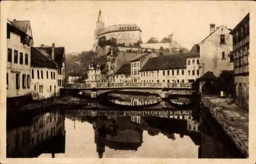
<svg viewBox="0 0 256 164">
<path fill-rule="evenodd" d="M 33 37 L 30 21 L 7 20 L 7 103 L 29 99 Z"/>
</svg>

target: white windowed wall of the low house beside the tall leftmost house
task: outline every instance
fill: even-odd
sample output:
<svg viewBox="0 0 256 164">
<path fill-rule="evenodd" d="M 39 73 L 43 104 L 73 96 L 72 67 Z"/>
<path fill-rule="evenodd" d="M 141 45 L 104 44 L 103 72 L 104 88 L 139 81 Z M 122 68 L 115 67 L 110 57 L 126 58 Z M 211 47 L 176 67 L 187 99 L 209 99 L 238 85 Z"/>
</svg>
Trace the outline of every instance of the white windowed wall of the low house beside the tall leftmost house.
<svg viewBox="0 0 256 164">
<path fill-rule="evenodd" d="M 57 68 L 32 67 L 31 91 L 34 100 L 58 96 Z"/>
</svg>

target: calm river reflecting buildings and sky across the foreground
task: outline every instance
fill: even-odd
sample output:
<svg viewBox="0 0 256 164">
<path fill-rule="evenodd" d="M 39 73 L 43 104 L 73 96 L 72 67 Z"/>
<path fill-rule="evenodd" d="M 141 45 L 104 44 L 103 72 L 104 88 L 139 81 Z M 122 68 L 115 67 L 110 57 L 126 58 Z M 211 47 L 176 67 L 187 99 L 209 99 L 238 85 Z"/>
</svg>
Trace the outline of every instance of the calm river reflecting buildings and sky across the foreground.
<svg viewBox="0 0 256 164">
<path fill-rule="evenodd" d="M 7 157 L 241 156 L 233 147 L 225 145 L 227 139 L 223 141 L 219 136 L 222 134 L 216 135 L 219 127 L 209 126 L 209 120 L 206 122 L 207 118 L 201 117 L 198 108 L 177 108 L 170 103 L 174 100 L 161 100 L 156 95 L 112 93 L 109 96 L 109 102 L 117 105 L 91 102 L 86 110 L 70 106 L 68 110 L 54 109 L 20 122 L 7 120 Z"/>
</svg>

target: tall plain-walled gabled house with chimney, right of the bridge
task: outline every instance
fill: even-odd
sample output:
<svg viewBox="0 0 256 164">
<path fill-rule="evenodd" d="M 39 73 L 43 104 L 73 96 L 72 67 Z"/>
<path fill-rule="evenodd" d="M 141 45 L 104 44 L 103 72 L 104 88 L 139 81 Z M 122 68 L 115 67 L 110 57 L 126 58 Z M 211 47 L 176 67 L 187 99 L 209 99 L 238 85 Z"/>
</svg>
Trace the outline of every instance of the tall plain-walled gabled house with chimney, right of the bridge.
<svg viewBox="0 0 256 164">
<path fill-rule="evenodd" d="M 210 24 L 210 34 L 198 44 L 202 66 L 201 76 L 210 71 L 218 77 L 223 70 L 233 70 L 233 63 L 230 62 L 232 51 L 230 31 L 224 25 L 215 29 L 215 24 Z"/>
</svg>

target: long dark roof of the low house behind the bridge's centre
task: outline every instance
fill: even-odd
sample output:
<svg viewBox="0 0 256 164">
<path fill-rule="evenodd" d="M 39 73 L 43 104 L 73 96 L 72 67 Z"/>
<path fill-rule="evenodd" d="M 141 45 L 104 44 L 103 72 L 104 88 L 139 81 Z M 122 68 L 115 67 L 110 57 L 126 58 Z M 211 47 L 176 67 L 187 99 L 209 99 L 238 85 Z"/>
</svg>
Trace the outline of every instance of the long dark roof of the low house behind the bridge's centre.
<svg viewBox="0 0 256 164">
<path fill-rule="evenodd" d="M 184 69 L 186 68 L 186 56 L 173 54 L 150 58 L 140 71 Z"/>
</svg>

